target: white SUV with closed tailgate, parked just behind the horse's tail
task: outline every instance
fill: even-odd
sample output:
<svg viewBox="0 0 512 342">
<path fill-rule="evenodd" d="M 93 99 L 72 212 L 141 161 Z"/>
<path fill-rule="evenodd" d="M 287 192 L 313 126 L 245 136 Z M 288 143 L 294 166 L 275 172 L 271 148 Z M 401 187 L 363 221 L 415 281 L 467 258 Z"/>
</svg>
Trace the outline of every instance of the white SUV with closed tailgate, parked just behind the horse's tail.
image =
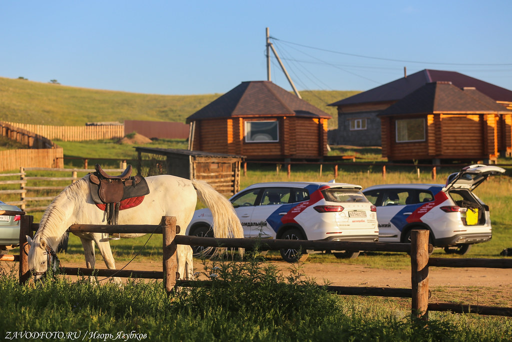
<svg viewBox="0 0 512 342">
<path fill-rule="evenodd" d="M 254 184 L 230 198 L 244 228 L 244 237 L 376 242 L 375 207 L 361 187 L 345 183 L 274 182 Z M 185 234 L 212 236 L 209 209 L 196 210 Z M 195 254 L 203 248 L 193 247 Z M 308 251 L 314 252 L 314 251 Z M 359 251 L 332 251 L 355 258 Z M 297 250 L 282 257 L 296 261 Z"/>
</svg>

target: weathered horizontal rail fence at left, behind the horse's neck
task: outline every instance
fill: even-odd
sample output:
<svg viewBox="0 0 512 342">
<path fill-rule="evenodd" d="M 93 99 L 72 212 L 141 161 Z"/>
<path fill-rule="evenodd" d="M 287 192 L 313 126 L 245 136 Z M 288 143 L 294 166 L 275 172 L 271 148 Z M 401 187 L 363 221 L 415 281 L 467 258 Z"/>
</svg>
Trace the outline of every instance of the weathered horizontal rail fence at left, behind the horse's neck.
<svg viewBox="0 0 512 342">
<path fill-rule="evenodd" d="M 51 150 L 50 150 L 51 151 Z M 62 160 L 62 159 L 59 159 Z M 126 162 L 120 162 L 119 169 L 105 169 L 106 172 L 123 172 L 126 169 Z M 67 172 L 65 177 L 30 176 L 29 172 Z M 40 168 L 20 167 L 18 173 L 2 173 L 0 177 L 19 176 L 17 180 L 0 180 L 0 185 L 19 185 L 19 189 L 0 190 L 1 195 L 19 194 L 19 200 L 4 200 L 5 203 L 18 206 L 25 212 L 45 211 L 48 205 L 40 205 L 40 202 L 51 202 L 64 188 L 76 182 L 94 169 L 64 169 L 64 168 Z M 50 185 L 47 185 L 50 183 Z M 60 184 L 60 185 L 56 185 Z M 39 205 L 38 205 L 39 204 Z"/>
</svg>

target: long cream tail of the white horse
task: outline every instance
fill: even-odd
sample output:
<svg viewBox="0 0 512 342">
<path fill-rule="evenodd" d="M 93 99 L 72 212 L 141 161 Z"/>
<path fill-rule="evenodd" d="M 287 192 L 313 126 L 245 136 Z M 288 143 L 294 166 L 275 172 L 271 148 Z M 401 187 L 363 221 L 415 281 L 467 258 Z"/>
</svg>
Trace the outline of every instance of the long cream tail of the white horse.
<svg viewBox="0 0 512 342">
<path fill-rule="evenodd" d="M 192 185 L 196 188 L 201 202 L 211 211 L 214 236 L 219 238 L 243 238 L 244 230 L 231 202 L 204 180 L 193 180 Z M 243 255 L 243 249 L 239 248 L 239 250 Z"/>
</svg>

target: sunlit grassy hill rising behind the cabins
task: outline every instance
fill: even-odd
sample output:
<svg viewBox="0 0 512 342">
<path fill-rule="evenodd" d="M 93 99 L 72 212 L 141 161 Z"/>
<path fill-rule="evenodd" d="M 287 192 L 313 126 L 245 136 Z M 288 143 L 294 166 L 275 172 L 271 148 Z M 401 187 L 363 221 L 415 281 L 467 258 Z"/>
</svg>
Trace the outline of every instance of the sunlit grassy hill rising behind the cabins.
<svg viewBox="0 0 512 342">
<path fill-rule="evenodd" d="M 234 84 L 233 87 L 237 85 Z M 358 91 L 301 91 L 303 99 L 333 116 L 327 105 Z M 152 95 L 67 87 L 0 77 L 0 120 L 39 125 L 83 126 L 88 122 L 155 120 L 185 122 L 222 94 Z"/>
</svg>

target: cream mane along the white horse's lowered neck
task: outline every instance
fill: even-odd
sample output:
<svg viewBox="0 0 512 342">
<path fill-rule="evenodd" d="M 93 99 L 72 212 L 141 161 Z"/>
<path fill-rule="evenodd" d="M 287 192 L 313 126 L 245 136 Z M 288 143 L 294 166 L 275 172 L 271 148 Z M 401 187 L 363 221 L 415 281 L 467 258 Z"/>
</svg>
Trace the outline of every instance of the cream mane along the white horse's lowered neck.
<svg viewBox="0 0 512 342">
<path fill-rule="evenodd" d="M 42 257 L 45 257 L 42 253 L 35 253 L 41 244 L 41 239 L 44 239 L 52 249 L 56 249 L 60 240 L 64 237 L 62 231 L 62 225 L 67 222 L 70 214 L 69 210 L 63 211 L 62 204 L 66 202 L 75 202 L 75 200 L 85 200 L 84 195 L 87 195 L 89 175 L 77 180 L 75 183 L 67 186 L 62 190 L 48 206 L 45 213 L 41 217 L 39 223 L 39 229 L 34 235 L 34 244 L 29 252 L 29 267 L 39 264 L 42 261 Z M 67 229 L 68 227 L 66 227 Z"/>
</svg>

